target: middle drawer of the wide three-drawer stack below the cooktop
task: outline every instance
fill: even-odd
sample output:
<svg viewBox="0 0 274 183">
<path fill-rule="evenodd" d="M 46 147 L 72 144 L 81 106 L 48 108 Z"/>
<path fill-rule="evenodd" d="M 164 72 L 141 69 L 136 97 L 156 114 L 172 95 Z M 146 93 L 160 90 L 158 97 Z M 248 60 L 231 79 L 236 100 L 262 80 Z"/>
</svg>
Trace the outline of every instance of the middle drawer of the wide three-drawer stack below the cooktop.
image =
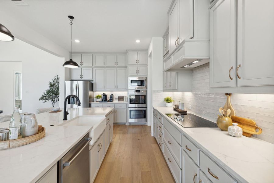
<svg viewBox="0 0 274 183">
<path fill-rule="evenodd" d="M 167 144 L 167 147 L 171 154 L 173 155 L 174 159 L 180 165 L 180 168 L 182 168 L 181 165 L 181 149 L 182 147 L 178 144 L 178 142 L 172 137 L 172 135 L 167 131 L 165 127 L 163 127 L 164 131 L 164 137 L 163 140 L 165 144 Z"/>
</svg>

